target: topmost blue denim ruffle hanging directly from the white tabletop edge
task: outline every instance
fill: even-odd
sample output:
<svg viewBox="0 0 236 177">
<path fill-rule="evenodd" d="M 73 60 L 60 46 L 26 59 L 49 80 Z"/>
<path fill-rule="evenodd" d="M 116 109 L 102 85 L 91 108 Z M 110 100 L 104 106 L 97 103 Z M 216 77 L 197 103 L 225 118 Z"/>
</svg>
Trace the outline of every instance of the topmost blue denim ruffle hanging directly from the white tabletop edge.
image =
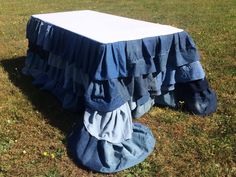
<svg viewBox="0 0 236 177">
<path fill-rule="evenodd" d="M 60 56 L 98 81 L 159 73 L 199 60 L 185 31 L 103 44 L 31 17 L 26 33 L 30 49 Z"/>
</svg>

